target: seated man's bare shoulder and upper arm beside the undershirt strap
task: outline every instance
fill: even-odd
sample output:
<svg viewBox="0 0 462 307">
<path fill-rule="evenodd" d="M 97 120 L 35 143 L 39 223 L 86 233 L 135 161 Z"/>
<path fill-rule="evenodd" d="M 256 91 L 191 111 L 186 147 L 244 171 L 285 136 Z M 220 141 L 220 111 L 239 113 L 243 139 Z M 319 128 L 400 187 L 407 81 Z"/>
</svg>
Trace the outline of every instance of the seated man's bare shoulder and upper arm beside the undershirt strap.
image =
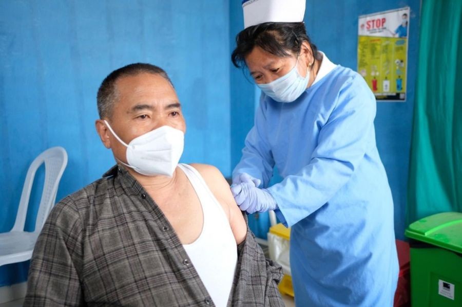
<svg viewBox="0 0 462 307">
<path fill-rule="evenodd" d="M 247 226 L 242 217 L 241 210 L 239 210 L 239 207 L 236 205 L 229 185 L 220 170 L 214 166 L 205 164 L 191 164 L 191 166 L 199 171 L 210 191 L 215 195 L 222 205 L 223 210 L 225 210 L 228 215 L 229 225 L 233 230 L 236 243 L 239 244 L 244 241 L 247 233 Z"/>
</svg>

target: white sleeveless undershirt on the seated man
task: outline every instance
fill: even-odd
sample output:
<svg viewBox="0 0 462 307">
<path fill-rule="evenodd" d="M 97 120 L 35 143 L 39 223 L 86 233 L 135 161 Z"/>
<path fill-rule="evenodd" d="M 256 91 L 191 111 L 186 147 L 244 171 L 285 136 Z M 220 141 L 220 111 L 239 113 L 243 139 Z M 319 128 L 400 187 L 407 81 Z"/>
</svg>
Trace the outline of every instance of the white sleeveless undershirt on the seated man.
<svg viewBox="0 0 462 307">
<path fill-rule="evenodd" d="M 226 306 L 237 263 L 236 239 L 223 208 L 199 172 L 186 164 L 178 166 L 196 191 L 204 217 L 199 238 L 183 247 L 215 305 Z"/>
</svg>

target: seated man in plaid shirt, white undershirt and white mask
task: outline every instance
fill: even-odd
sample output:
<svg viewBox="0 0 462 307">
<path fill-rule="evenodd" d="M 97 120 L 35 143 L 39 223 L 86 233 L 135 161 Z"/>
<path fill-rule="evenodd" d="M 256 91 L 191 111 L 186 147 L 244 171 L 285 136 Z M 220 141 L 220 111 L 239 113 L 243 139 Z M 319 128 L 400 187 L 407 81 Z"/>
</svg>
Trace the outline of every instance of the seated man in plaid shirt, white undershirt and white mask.
<svg viewBox="0 0 462 307">
<path fill-rule="evenodd" d="M 118 165 L 57 204 L 35 245 L 28 305 L 283 306 L 218 169 L 178 164 L 186 125 L 165 71 L 131 64 L 98 91 Z"/>
</svg>

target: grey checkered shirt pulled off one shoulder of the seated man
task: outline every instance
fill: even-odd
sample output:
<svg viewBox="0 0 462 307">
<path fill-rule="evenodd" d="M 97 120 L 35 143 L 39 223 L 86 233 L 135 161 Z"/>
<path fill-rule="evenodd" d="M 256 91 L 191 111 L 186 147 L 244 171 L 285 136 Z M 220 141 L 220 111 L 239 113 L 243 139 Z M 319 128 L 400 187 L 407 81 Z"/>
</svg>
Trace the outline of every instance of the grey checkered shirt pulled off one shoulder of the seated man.
<svg viewBox="0 0 462 307">
<path fill-rule="evenodd" d="M 284 306 L 282 269 L 250 230 L 237 249 L 228 306 Z M 53 208 L 27 286 L 24 306 L 214 306 L 162 211 L 118 167 Z"/>
</svg>

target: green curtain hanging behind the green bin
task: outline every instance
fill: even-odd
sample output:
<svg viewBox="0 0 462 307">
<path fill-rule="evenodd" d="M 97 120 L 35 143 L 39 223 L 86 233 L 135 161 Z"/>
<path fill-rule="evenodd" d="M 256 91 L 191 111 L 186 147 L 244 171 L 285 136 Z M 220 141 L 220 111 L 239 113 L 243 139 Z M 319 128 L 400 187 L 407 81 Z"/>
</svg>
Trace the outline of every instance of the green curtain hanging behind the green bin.
<svg viewBox="0 0 462 307">
<path fill-rule="evenodd" d="M 407 222 L 462 212 L 462 0 L 423 0 Z"/>
</svg>

